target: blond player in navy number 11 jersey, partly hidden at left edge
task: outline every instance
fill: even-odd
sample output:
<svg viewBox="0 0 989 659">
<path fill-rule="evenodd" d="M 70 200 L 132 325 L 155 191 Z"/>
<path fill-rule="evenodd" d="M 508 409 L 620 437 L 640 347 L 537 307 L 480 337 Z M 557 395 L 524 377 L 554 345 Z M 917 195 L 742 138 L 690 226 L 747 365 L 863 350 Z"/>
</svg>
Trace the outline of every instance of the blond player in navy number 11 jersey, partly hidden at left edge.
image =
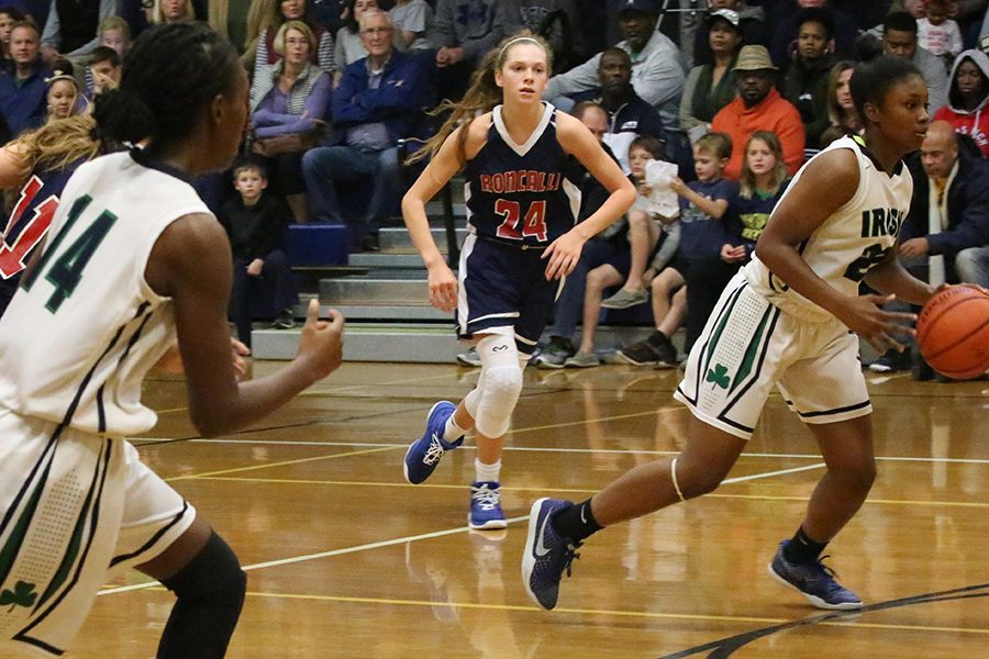
<svg viewBox="0 0 989 659">
<path fill-rule="evenodd" d="M 100 152 L 100 143 L 91 136 L 95 126 L 89 115 L 55 119 L 0 149 L 0 189 L 21 190 L 0 230 L 0 316 L 48 232 L 65 183 Z"/>
</svg>

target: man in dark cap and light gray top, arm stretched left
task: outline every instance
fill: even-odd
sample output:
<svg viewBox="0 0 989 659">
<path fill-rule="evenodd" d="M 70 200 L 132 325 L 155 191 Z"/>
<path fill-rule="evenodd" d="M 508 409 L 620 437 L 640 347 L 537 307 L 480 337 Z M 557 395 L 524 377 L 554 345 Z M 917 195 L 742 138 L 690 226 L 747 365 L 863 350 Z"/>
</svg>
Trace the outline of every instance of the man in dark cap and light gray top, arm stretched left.
<svg viewBox="0 0 989 659">
<path fill-rule="evenodd" d="M 664 126 L 677 126 L 677 107 L 684 90 L 684 69 L 677 46 L 662 32 L 656 31 L 659 16 L 654 0 L 625 0 L 619 21 L 624 41 L 618 47 L 632 59 L 632 87 L 635 93 L 659 111 Z M 596 89 L 601 54 L 580 66 L 554 76 L 543 97 L 553 100 L 580 91 Z"/>
</svg>

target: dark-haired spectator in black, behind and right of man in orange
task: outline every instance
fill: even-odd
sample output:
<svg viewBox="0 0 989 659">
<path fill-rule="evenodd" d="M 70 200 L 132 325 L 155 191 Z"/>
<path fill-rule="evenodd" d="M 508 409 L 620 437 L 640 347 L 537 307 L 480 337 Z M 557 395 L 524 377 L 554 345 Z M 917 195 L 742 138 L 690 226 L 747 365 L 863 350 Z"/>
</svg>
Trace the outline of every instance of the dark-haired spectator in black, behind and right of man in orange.
<svg viewBox="0 0 989 659">
<path fill-rule="evenodd" d="M 807 147 L 821 148 L 821 133 L 831 125 L 827 116 L 827 75 L 834 58 L 827 45 L 834 36 L 834 21 L 820 7 L 804 9 L 797 25 L 797 55 L 787 66 L 782 96 L 800 112 Z"/>
</svg>

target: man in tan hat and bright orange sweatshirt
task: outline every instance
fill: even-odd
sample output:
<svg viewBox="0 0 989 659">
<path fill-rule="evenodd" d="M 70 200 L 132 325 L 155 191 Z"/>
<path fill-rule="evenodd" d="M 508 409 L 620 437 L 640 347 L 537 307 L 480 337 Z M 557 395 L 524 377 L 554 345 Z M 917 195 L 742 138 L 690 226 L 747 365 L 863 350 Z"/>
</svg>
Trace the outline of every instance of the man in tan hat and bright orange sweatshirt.
<svg viewBox="0 0 989 659">
<path fill-rule="evenodd" d="M 800 113 L 779 96 L 773 83 L 776 67 L 765 46 L 743 46 L 735 63 L 738 98 L 714 115 L 711 130 L 732 138 L 732 157 L 724 169 L 725 178 L 738 180 L 745 143 L 756 131 L 773 131 L 779 137 L 784 161 L 790 176 L 803 164 L 804 133 Z"/>
</svg>

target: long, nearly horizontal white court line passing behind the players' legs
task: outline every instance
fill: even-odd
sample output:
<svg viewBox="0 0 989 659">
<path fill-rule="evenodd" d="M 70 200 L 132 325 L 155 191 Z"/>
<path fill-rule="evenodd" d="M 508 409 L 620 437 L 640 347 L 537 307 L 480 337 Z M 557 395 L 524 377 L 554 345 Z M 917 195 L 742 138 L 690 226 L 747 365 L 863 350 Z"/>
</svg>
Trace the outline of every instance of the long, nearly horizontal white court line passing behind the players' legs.
<svg viewBox="0 0 989 659">
<path fill-rule="evenodd" d="M 133 442 L 141 442 L 141 446 L 154 446 L 157 443 L 173 442 L 166 437 L 134 437 Z M 305 440 L 281 440 L 281 439 L 219 439 L 219 438 L 200 438 L 189 439 L 192 444 L 258 444 L 270 446 L 333 446 L 333 447 L 379 447 L 379 448 L 408 448 L 408 444 L 381 444 L 380 442 L 305 442 Z M 464 446 L 465 450 L 476 450 L 475 446 Z M 618 455 L 648 455 L 648 456 L 676 456 L 679 450 L 652 450 L 637 448 L 556 448 L 556 447 L 538 447 L 538 446 L 505 446 L 507 451 L 519 453 L 573 453 L 573 454 L 618 454 Z M 743 458 L 787 458 L 801 460 L 820 460 L 820 455 L 814 454 L 767 454 L 767 453 L 743 453 Z M 989 465 L 989 458 L 927 458 L 911 456 L 876 456 L 877 460 L 897 461 L 897 462 L 934 462 L 934 463 L 956 463 L 956 465 Z"/>
</svg>

